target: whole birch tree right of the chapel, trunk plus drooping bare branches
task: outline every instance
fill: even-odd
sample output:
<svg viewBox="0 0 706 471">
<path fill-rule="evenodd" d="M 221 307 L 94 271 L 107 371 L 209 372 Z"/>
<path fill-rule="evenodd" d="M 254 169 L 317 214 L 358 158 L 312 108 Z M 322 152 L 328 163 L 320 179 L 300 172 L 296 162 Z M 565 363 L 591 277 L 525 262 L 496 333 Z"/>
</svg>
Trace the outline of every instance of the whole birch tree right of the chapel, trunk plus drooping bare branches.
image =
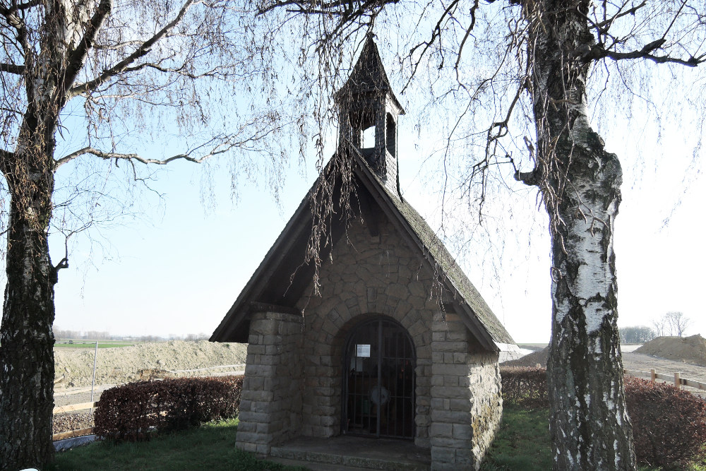
<svg viewBox="0 0 706 471">
<path fill-rule="evenodd" d="M 321 90 L 317 110 L 333 103 L 361 37 L 378 34 L 397 49 L 403 91 L 426 90 L 433 113 L 453 114 L 444 155 L 471 150 L 457 180 L 481 213 L 493 173 L 538 189 L 551 235 L 554 468 L 635 469 L 616 323 L 621 162 L 592 124 L 587 90 L 594 83 L 599 95 L 641 93 L 628 76 L 648 82 L 652 66 L 694 79 L 698 72 L 686 70 L 706 60 L 705 4 L 260 0 L 258 7 L 265 24 L 298 25 L 302 74 L 318 77 Z M 333 111 L 315 116 L 322 127 L 335 120 Z"/>
</svg>

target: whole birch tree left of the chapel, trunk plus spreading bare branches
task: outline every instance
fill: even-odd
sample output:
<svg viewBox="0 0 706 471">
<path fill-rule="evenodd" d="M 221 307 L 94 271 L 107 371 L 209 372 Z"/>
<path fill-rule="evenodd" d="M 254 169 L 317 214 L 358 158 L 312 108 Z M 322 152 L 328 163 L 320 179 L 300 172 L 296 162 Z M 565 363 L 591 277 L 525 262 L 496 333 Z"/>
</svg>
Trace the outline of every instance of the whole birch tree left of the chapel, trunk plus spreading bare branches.
<svg viewBox="0 0 706 471">
<path fill-rule="evenodd" d="M 0 1 L 0 220 L 7 239 L 1 470 L 42 467 L 54 452 L 54 285 L 69 261 L 68 254 L 58 263 L 49 256 L 56 179 L 71 186 L 76 177 L 79 188 L 90 175 L 121 169 L 139 185 L 147 165 L 217 155 L 237 157 L 234 169 L 277 172 L 281 149 L 264 138 L 280 129 L 282 116 L 261 93 L 275 71 L 262 62 L 267 44 L 244 40 L 244 18 L 251 19 L 244 6 Z M 180 149 L 145 155 L 150 137 Z M 77 162 L 90 172 L 75 175 Z M 95 207 L 127 197 L 93 196 Z"/>
</svg>

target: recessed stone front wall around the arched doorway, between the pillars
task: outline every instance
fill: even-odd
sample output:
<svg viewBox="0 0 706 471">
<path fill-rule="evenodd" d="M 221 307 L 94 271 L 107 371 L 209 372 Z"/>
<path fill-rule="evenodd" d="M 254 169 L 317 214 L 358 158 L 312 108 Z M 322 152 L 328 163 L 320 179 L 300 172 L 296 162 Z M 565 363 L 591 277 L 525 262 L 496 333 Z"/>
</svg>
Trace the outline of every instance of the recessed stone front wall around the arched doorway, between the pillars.
<svg viewBox="0 0 706 471">
<path fill-rule="evenodd" d="M 429 447 L 431 405 L 431 299 L 433 273 L 421 256 L 381 222 L 372 237 L 358 223 L 335 247 L 333 263 L 321 267 L 321 297 L 303 299 L 305 338 L 303 433 L 340 434 L 342 358 L 351 328 L 374 315 L 394 318 L 407 329 L 417 353 L 415 443 Z"/>
</svg>

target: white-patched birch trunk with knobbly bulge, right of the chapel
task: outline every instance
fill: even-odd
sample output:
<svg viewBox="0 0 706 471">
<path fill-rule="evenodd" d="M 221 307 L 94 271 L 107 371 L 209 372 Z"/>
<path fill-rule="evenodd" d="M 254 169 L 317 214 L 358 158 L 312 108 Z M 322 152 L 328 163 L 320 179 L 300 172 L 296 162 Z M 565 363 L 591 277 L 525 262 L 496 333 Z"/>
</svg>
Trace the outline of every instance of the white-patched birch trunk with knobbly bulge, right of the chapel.
<svg viewBox="0 0 706 471">
<path fill-rule="evenodd" d="M 555 470 L 634 470 L 613 250 L 622 174 L 587 117 L 591 59 L 584 51 L 594 44 L 588 6 L 560 0 L 525 6 L 537 126 L 532 182 L 551 221 L 550 429 Z"/>
</svg>

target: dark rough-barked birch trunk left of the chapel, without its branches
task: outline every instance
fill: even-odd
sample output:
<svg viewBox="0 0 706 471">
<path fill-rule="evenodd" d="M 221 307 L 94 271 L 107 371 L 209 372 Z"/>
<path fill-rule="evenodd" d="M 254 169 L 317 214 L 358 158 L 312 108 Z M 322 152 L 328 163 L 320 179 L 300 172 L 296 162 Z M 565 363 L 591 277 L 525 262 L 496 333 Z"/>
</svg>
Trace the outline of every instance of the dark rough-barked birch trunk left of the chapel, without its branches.
<svg viewBox="0 0 706 471">
<path fill-rule="evenodd" d="M 10 196 L 7 284 L 0 328 L 0 469 L 41 466 L 54 455 L 54 284 L 49 220 L 54 191 L 54 132 L 62 100 L 61 62 L 71 38 L 66 10 L 44 5 L 47 18 L 39 47 L 18 28 L 25 57 L 27 109 L 16 150 L 0 155 Z M 18 18 L 19 20 L 19 18 Z"/>
</svg>

